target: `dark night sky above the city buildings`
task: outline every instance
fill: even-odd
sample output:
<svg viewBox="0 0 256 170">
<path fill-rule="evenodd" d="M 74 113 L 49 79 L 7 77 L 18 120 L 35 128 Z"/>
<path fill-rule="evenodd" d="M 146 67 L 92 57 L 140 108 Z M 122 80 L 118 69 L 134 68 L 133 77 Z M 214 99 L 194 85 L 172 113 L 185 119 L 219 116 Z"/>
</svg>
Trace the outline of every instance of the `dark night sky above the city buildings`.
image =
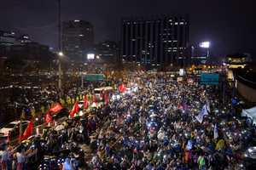
<svg viewBox="0 0 256 170">
<path fill-rule="evenodd" d="M 57 49 L 58 1 L 24 1 L 0 1 L 0 30 L 26 33 L 32 41 Z M 93 22 L 95 43 L 118 42 L 121 17 L 186 12 L 189 45 L 209 41 L 213 55 L 252 53 L 256 51 L 255 8 L 255 0 L 61 0 L 61 20 Z"/>
</svg>

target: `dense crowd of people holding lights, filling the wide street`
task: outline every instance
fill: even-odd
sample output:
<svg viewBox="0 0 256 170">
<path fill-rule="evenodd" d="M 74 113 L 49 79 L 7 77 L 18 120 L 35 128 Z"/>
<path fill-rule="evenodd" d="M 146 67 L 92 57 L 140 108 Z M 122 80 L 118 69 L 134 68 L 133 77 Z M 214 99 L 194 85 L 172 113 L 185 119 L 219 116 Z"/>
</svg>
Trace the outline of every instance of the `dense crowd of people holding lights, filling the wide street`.
<svg viewBox="0 0 256 170">
<path fill-rule="evenodd" d="M 15 149 L 6 147 L 2 169 L 255 169 L 247 152 L 255 145 L 255 125 L 240 116 L 241 105 L 221 100 L 222 89 L 153 74 L 126 82 L 130 86 L 115 92 L 108 105 L 90 105 L 83 116 L 46 127 Z M 87 139 L 91 160 L 79 148 Z M 45 155 L 57 158 L 44 166 Z"/>
</svg>

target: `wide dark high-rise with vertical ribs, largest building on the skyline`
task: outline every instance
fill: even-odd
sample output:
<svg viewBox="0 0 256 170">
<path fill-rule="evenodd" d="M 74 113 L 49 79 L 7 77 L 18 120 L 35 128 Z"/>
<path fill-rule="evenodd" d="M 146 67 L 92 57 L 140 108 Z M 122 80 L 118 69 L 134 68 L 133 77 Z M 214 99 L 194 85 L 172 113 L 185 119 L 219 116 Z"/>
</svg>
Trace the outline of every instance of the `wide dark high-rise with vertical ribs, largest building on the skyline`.
<svg viewBox="0 0 256 170">
<path fill-rule="evenodd" d="M 189 14 L 122 18 L 120 54 L 124 61 L 141 65 L 186 64 Z"/>
</svg>

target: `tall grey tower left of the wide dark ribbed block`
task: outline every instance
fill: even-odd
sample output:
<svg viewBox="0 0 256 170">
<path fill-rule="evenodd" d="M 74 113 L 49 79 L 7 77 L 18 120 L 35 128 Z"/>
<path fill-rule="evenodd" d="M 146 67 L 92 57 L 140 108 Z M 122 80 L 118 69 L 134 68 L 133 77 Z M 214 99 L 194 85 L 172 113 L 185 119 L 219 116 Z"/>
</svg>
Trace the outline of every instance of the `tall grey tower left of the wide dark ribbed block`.
<svg viewBox="0 0 256 170">
<path fill-rule="evenodd" d="M 85 20 L 62 21 L 62 52 L 64 60 L 84 63 L 87 54 L 93 53 L 93 23 Z"/>
</svg>

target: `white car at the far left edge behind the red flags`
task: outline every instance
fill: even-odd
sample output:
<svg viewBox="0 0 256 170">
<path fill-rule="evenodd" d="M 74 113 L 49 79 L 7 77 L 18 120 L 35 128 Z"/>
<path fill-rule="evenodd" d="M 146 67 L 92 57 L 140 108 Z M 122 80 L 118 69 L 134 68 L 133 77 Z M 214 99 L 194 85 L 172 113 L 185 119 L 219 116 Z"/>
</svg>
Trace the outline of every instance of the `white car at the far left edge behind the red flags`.
<svg viewBox="0 0 256 170">
<path fill-rule="evenodd" d="M 22 131 L 24 132 L 29 121 L 22 121 Z M 10 122 L 5 127 L 1 128 L 0 133 L 4 133 L 3 136 L 15 136 L 20 132 L 20 121 Z"/>
</svg>

